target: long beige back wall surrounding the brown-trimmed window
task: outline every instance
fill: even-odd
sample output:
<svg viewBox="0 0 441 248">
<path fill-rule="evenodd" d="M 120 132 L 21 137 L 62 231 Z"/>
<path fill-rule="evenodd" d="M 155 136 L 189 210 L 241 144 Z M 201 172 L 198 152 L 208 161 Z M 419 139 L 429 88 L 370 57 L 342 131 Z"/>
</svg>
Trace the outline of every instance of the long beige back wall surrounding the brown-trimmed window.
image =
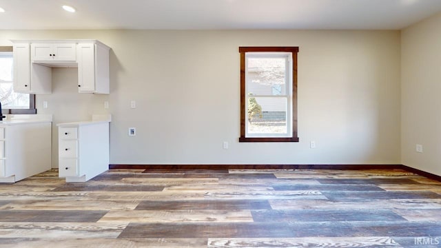
<svg viewBox="0 0 441 248">
<path fill-rule="evenodd" d="M 399 31 L 0 32 L 0 45 L 8 39 L 99 39 L 112 48 L 110 95 L 78 94 L 76 70 L 54 69 L 53 94 L 37 96 L 54 124 L 110 112 L 110 163 L 400 163 Z M 238 143 L 238 46 L 252 45 L 300 47 L 300 143 Z"/>
</svg>

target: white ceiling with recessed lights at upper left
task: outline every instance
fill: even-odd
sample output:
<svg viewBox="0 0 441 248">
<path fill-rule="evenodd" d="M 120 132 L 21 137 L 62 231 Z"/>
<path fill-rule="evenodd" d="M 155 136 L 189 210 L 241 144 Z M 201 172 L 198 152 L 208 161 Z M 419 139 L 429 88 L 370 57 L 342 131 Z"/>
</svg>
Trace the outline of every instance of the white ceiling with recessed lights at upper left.
<svg viewBox="0 0 441 248">
<path fill-rule="evenodd" d="M 1 30 L 399 30 L 441 12 L 441 0 L 0 0 L 0 8 Z"/>
</svg>

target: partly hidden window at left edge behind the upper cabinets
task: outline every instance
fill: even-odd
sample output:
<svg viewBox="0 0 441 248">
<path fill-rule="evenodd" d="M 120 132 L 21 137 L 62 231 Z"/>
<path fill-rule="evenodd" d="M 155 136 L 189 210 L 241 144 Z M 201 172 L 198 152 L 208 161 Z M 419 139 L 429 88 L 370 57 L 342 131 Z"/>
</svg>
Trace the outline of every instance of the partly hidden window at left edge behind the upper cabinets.
<svg viewBox="0 0 441 248">
<path fill-rule="evenodd" d="M 14 59 L 11 47 L 0 47 L 0 103 L 3 114 L 36 114 L 35 95 L 14 92 Z"/>
</svg>

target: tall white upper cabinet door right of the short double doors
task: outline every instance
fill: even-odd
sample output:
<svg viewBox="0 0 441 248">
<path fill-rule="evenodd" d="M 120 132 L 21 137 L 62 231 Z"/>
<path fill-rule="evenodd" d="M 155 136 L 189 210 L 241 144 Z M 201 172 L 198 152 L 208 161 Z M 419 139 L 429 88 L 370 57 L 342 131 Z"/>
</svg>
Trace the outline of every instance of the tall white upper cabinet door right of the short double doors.
<svg viewBox="0 0 441 248">
<path fill-rule="evenodd" d="M 78 92 L 95 91 L 95 44 L 76 45 L 78 62 Z"/>
</svg>

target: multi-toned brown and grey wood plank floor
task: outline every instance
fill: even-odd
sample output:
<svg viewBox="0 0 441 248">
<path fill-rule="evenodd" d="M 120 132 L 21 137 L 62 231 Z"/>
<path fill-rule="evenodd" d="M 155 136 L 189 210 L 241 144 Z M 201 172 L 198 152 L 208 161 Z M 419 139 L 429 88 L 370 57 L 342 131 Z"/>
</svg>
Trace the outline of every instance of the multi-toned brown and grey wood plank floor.
<svg viewBox="0 0 441 248">
<path fill-rule="evenodd" d="M 393 170 L 51 170 L 0 184 L 0 247 L 441 247 L 441 183 Z"/>
</svg>

